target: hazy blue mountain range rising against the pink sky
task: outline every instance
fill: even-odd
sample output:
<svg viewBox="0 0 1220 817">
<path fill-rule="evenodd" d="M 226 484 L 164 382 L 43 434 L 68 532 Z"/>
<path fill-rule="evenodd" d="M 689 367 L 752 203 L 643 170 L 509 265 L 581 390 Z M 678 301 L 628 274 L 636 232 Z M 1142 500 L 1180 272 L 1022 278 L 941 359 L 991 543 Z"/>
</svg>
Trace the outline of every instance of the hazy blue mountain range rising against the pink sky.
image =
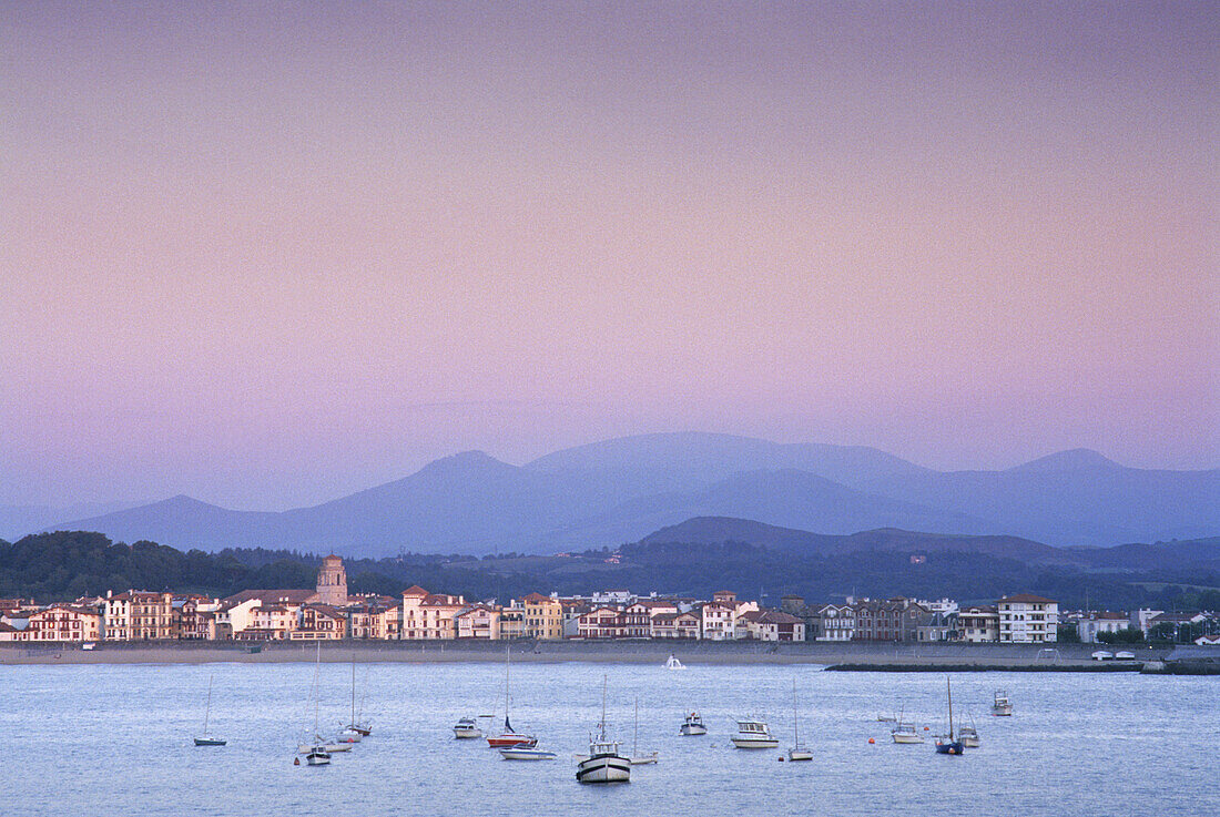
<svg viewBox="0 0 1220 817">
<path fill-rule="evenodd" d="M 13 529 L 11 537 L 76 529 L 203 550 L 545 554 L 614 548 L 692 517 L 824 535 L 898 528 L 1015 537 L 1057 548 L 1198 539 L 1220 535 L 1220 469 L 1128 468 L 1077 449 L 1004 471 L 939 472 L 863 446 L 648 434 L 565 449 L 523 466 L 468 451 L 283 512 L 174 496 Z"/>
</svg>

